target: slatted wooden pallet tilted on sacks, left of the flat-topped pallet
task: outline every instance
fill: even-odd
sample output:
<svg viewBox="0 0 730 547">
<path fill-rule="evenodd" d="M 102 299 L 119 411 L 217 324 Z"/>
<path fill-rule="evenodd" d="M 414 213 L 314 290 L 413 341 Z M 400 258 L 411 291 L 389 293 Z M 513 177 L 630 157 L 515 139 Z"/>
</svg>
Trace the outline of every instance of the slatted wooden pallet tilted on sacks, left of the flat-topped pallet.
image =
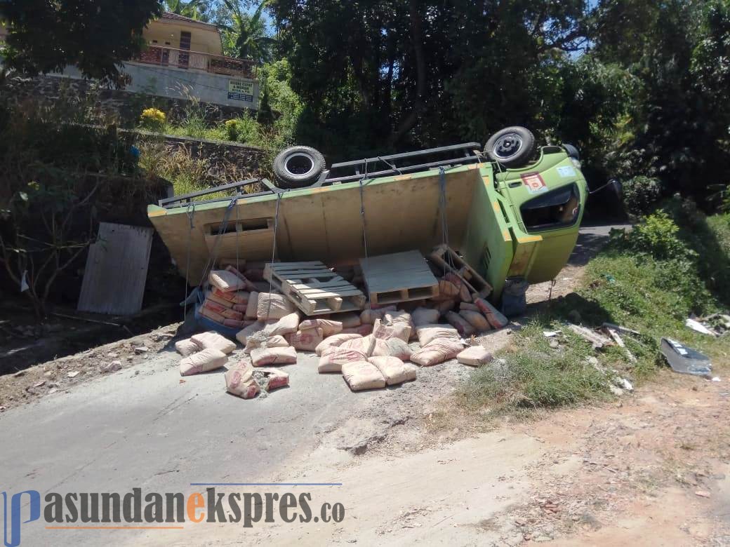
<svg viewBox="0 0 730 547">
<path fill-rule="evenodd" d="M 307 315 L 361 310 L 365 295 L 321 262 L 266 264 L 264 279 Z"/>
</svg>

